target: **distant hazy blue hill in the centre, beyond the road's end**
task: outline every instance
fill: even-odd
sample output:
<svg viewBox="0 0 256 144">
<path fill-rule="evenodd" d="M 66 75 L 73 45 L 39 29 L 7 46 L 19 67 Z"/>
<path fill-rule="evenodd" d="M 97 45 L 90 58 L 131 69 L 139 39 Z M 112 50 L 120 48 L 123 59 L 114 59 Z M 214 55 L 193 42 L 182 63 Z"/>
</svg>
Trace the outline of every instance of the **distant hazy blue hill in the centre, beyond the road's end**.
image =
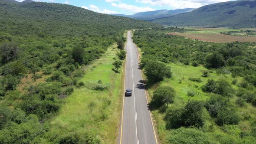
<svg viewBox="0 0 256 144">
<path fill-rule="evenodd" d="M 178 9 L 178 10 L 154 10 L 154 11 L 148 11 L 148 12 L 135 13 L 133 15 L 125 15 L 125 14 L 111 14 L 111 15 L 125 16 L 125 17 L 130 17 L 130 18 L 139 19 L 139 20 L 153 20 L 157 18 L 173 16 L 179 13 L 190 12 L 192 10 L 195 10 L 195 8 Z"/>
</svg>

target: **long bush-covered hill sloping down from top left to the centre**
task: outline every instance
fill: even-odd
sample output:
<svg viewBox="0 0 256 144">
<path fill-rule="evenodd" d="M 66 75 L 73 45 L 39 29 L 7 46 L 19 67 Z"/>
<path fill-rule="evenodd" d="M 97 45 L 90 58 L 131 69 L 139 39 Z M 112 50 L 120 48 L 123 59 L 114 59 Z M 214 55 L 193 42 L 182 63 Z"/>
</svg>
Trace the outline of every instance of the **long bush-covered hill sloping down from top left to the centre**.
<svg viewBox="0 0 256 144">
<path fill-rule="evenodd" d="M 142 20 L 95 13 L 61 3 L 0 0 L 0 32 L 24 35 L 120 35 L 125 29 L 159 26 Z"/>
</svg>

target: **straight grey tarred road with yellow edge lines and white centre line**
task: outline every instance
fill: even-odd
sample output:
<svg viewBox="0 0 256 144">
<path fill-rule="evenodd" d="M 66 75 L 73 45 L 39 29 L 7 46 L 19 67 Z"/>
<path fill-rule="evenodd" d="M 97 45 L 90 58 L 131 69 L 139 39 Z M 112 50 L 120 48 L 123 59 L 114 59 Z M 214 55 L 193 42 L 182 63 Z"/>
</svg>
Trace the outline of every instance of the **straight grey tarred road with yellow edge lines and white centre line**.
<svg viewBox="0 0 256 144">
<path fill-rule="evenodd" d="M 125 49 L 125 89 L 131 89 L 132 96 L 123 99 L 119 143 L 158 144 L 139 69 L 138 49 L 132 42 L 131 31 L 128 32 Z"/>
</svg>

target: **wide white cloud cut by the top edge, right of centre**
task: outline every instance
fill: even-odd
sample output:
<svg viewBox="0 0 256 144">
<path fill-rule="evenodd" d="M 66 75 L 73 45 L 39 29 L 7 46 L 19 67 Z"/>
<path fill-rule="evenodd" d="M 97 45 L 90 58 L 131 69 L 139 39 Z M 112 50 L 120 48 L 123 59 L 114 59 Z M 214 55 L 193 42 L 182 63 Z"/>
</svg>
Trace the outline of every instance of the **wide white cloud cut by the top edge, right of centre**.
<svg viewBox="0 0 256 144">
<path fill-rule="evenodd" d="M 138 3 L 151 4 L 153 6 L 168 6 L 174 9 L 198 8 L 211 3 L 220 3 L 229 0 L 136 0 Z"/>
</svg>

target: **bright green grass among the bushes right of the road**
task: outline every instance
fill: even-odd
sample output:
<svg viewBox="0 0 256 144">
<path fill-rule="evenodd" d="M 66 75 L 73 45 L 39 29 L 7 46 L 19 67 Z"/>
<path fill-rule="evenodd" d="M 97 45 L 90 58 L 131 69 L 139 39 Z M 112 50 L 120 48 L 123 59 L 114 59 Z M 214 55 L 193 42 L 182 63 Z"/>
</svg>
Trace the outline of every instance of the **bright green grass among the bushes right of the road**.
<svg viewBox="0 0 256 144">
<path fill-rule="evenodd" d="M 210 93 L 204 93 L 201 89 L 202 85 L 205 85 L 207 83 L 208 79 L 225 79 L 226 81 L 230 82 L 234 79 L 230 74 L 227 75 L 218 75 L 215 71 L 212 71 L 210 75 L 207 78 L 202 77 L 202 70 L 207 70 L 206 68 L 202 66 L 194 67 L 190 65 L 182 65 L 181 63 L 171 63 L 169 64 L 171 66 L 173 76 L 171 79 L 164 79 L 164 81 L 153 85 L 151 88 L 148 89 L 150 97 L 153 95 L 154 90 L 159 86 L 171 86 L 174 88 L 176 96 L 174 97 L 174 103 L 168 105 L 169 108 L 180 108 L 183 105 L 186 104 L 188 100 L 197 100 L 197 101 L 206 101 L 210 98 Z M 183 79 L 184 77 L 184 79 Z M 188 80 L 188 78 L 200 78 L 202 82 L 191 82 Z M 238 83 L 241 82 L 242 78 L 237 77 Z M 181 83 L 180 83 L 181 80 Z M 197 87 L 198 86 L 198 87 Z M 196 88 L 197 87 L 197 88 Z M 236 85 L 232 85 L 234 89 L 237 89 L 238 87 Z M 188 91 L 194 91 L 196 95 L 194 97 L 190 97 L 187 95 Z M 233 97 L 230 99 L 231 103 L 233 105 L 235 104 L 237 97 Z M 163 109 L 167 109 L 166 105 L 164 108 L 160 108 L 159 110 L 152 111 L 154 120 L 157 124 L 157 131 L 158 136 L 162 142 L 162 144 L 167 144 L 166 137 L 169 134 L 169 131 L 165 128 L 166 122 L 164 121 L 165 111 Z M 252 116 L 253 118 L 256 118 L 256 108 L 253 107 L 251 104 L 246 103 L 246 106 L 243 108 L 236 107 L 236 110 L 238 111 L 239 115 L 241 117 L 244 117 L 245 114 Z M 245 128 L 249 130 L 249 121 L 243 120 L 238 125 L 225 125 L 224 127 L 217 126 L 214 124 L 214 120 L 210 118 L 209 115 L 205 115 L 205 125 L 203 126 L 203 129 L 205 129 L 208 136 L 212 137 L 213 139 L 217 137 L 217 135 L 223 135 L 231 137 L 232 139 L 236 140 L 238 137 L 240 137 L 241 128 Z M 211 127 L 213 126 L 213 129 Z M 226 131 L 226 132 L 224 132 Z M 217 144 L 220 144 L 221 141 L 216 140 Z"/>
</svg>

